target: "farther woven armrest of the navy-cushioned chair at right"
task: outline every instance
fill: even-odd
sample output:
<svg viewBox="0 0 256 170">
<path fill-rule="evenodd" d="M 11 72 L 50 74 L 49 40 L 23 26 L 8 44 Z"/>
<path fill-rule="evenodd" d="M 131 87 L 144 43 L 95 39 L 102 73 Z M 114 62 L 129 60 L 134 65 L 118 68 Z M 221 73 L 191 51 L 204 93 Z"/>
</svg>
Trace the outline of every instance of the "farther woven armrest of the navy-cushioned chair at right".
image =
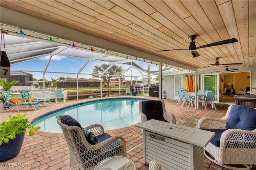
<svg viewBox="0 0 256 170">
<path fill-rule="evenodd" d="M 197 128 L 225 128 L 227 121 L 225 119 L 217 119 L 212 117 L 203 117 L 199 119 Z"/>
</svg>

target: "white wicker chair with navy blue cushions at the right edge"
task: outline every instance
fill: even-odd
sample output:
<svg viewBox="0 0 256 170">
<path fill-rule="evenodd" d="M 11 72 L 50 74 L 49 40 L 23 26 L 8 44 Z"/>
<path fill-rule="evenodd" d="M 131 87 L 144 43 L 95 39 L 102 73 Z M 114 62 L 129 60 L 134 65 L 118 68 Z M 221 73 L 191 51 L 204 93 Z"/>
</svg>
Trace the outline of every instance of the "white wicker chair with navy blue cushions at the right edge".
<svg viewBox="0 0 256 170">
<path fill-rule="evenodd" d="M 225 164 L 243 164 L 250 169 L 256 164 L 256 109 L 241 105 L 230 105 L 221 118 L 203 117 L 198 128 L 215 132 L 205 150 L 214 157 L 212 162 L 229 168 Z M 237 169 L 237 168 L 236 168 Z"/>
</svg>

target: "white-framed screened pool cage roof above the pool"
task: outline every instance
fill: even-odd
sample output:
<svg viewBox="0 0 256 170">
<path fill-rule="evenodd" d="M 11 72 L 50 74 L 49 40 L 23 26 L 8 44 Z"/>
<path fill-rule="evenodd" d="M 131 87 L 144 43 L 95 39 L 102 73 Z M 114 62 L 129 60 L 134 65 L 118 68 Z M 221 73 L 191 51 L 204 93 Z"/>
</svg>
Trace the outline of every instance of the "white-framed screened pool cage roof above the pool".
<svg viewBox="0 0 256 170">
<path fill-rule="evenodd" d="M 12 28 L 14 29 L 14 28 Z M 17 28 L 16 28 L 17 29 Z M 14 29 L 15 30 L 15 29 Z M 8 32 L 9 30 L 7 30 Z M 88 45 L 70 42 L 68 40 L 61 40 L 60 38 L 51 37 L 53 41 L 49 42 L 48 36 L 42 34 L 35 34 L 26 30 L 25 35 L 18 34 L 19 30 L 9 31 L 8 34 L 4 34 L 4 43 L 2 41 L 1 51 L 6 51 L 8 59 L 11 66 L 22 62 L 30 61 L 33 59 L 39 59 L 41 57 L 50 56 L 47 64 L 43 71 L 38 70 L 11 70 L 12 71 L 26 71 L 26 72 L 41 72 L 41 73 L 64 73 L 64 72 L 53 72 L 47 71 L 47 67 L 51 61 L 51 58 L 55 55 L 66 56 L 66 57 L 76 57 L 80 59 L 86 59 L 84 65 L 79 69 L 78 72 L 65 72 L 65 74 L 75 74 L 75 75 L 88 75 L 88 73 L 83 73 L 84 67 L 90 63 L 90 61 L 101 61 L 100 63 L 111 63 L 112 65 L 128 65 L 127 69 L 121 75 L 125 77 L 143 77 L 158 75 L 158 67 L 160 63 L 154 61 L 146 61 L 145 59 L 137 58 L 136 56 L 128 56 L 125 54 L 116 53 L 115 51 L 108 51 L 107 49 L 99 49 L 97 47 L 89 47 Z M 32 36 L 31 36 L 32 35 Z M 72 47 L 72 44 L 76 47 Z M 91 49 L 94 49 L 91 51 Z M 152 62 L 152 63 L 151 63 Z M 151 67 L 147 69 L 143 68 L 142 63 L 148 63 Z M 111 65 L 111 66 L 112 66 Z M 162 64 L 162 74 L 175 75 L 181 74 L 181 72 L 187 73 L 186 71 L 181 71 L 174 66 Z M 153 66 L 153 70 L 152 70 Z M 110 69 L 110 67 L 108 68 Z M 108 70 L 107 69 L 107 70 Z M 137 75 L 126 75 L 126 72 L 130 69 L 136 69 L 139 74 Z M 151 71 L 150 71 L 151 69 Z M 107 71 L 106 70 L 106 71 Z M 106 73 L 104 71 L 103 75 Z M 92 72 L 92 71 L 91 71 Z M 131 71 L 133 73 L 134 71 Z M 90 74 L 91 75 L 91 74 Z"/>
</svg>

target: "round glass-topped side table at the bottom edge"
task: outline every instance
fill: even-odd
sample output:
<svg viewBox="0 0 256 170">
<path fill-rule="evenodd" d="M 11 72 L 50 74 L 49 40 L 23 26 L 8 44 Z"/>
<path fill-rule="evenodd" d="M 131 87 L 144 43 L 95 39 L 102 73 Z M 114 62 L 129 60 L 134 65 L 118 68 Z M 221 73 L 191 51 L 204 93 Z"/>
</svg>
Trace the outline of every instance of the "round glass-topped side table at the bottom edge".
<svg viewBox="0 0 256 170">
<path fill-rule="evenodd" d="M 114 156 L 102 160 L 94 170 L 136 170 L 135 164 L 129 158 Z"/>
</svg>

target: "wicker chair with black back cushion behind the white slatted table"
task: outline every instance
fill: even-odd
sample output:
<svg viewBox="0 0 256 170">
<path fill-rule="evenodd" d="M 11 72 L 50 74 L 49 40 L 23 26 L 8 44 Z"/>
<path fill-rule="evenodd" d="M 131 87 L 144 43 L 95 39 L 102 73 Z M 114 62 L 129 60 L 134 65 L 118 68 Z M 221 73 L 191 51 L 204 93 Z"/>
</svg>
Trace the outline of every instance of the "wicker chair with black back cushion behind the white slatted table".
<svg viewBox="0 0 256 170">
<path fill-rule="evenodd" d="M 163 100 L 139 101 L 139 111 L 141 115 L 141 123 L 150 119 L 156 119 L 176 124 L 174 115 L 166 112 Z"/>
</svg>

